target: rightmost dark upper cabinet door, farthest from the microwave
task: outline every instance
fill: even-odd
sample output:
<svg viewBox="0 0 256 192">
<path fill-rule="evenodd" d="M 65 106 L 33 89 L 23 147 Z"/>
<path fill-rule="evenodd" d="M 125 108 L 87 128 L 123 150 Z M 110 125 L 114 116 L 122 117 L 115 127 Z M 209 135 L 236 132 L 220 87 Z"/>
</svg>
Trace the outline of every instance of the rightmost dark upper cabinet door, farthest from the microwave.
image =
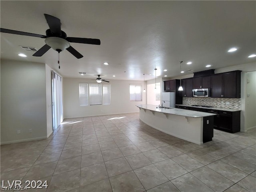
<svg viewBox="0 0 256 192">
<path fill-rule="evenodd" d="M 224 73 L 223 77 L 223 97 L 236 98 L 236 72 Z"/>
</svg>

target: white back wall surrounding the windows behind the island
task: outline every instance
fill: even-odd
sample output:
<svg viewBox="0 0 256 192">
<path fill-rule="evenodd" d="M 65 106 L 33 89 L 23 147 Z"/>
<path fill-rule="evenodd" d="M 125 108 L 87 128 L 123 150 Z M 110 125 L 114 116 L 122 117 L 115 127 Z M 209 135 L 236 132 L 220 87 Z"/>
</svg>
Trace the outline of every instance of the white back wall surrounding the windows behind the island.
<svg viewBox="0 0 256 192">
<path fill-rule="evenodd" d="M 110 80 L 110 105 L 80 106 L 79 83 L 89 81 L 91 80 L 84 78 L 63 78 L 64 119 L 139 112 L 135 105 L 146 104 L 146 93 L 142 95 L 142 102 L 130 102 L 130 84 L 143 86 L 143 81 Z"/>
</svg>

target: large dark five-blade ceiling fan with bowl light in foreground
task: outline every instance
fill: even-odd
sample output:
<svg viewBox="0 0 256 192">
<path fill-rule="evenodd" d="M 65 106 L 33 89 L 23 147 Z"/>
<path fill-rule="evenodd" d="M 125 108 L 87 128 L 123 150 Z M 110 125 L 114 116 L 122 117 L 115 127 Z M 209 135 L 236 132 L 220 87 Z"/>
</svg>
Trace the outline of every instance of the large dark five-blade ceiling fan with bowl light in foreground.
<svg viewBox="0 0 256 192">
<path fill-rule="evenodd" d="M 48 26 L 50 27 L 50 29 L 46 30 L 46 35 L 15 31 L 15 30 L 4 29 L 4 28 L 0 28 L 0 29 L 1 29 L 1 32 L 3 33 L 44 38 L 46 44 L 33 54 L 33 56 L 37 56 L 37 57 L 42 56 L 50 48 L 53 48 L 58 53 L 66 49 L 76 58 L 80 59 L 83 57 L 82 54 L 80 54 L 77 50 L 75 50 L 72 46 L 70 46 L 70 42 L 100 45 L 99 39 L 67 37 L 66 33 L 60 29 L 61 23 L 59 18 L 56 18 L 48 14 L 44 14 L 44 17 L 47 21 Z"/>
</svg>

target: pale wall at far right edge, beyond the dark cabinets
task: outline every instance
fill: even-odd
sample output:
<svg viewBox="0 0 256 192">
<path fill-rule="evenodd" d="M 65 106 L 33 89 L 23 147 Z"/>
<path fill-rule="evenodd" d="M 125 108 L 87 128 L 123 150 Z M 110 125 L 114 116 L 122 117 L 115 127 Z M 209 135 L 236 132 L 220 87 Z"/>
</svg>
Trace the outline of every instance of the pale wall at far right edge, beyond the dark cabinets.
<svg viewBox="0 0 256 192">
<path fill-rule="evenodd" d="M 256 71 L 245 74 L 245 130 L 256 127 Z"/>
</svg>

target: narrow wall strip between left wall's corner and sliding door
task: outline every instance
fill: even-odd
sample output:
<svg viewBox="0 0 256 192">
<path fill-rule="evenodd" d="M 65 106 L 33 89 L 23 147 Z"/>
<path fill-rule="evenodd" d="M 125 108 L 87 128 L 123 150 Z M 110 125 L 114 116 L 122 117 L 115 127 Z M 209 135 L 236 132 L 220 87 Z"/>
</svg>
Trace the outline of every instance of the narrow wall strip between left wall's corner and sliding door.
<svg viewBox="0 0 256 192">
<path fill-rule="evenodd" d="M 51 68 L 45 64 L 45 85 L 46 85 L 46 130 L 47 137 L 52 134 L 52 76 Z"/>
</svg>

